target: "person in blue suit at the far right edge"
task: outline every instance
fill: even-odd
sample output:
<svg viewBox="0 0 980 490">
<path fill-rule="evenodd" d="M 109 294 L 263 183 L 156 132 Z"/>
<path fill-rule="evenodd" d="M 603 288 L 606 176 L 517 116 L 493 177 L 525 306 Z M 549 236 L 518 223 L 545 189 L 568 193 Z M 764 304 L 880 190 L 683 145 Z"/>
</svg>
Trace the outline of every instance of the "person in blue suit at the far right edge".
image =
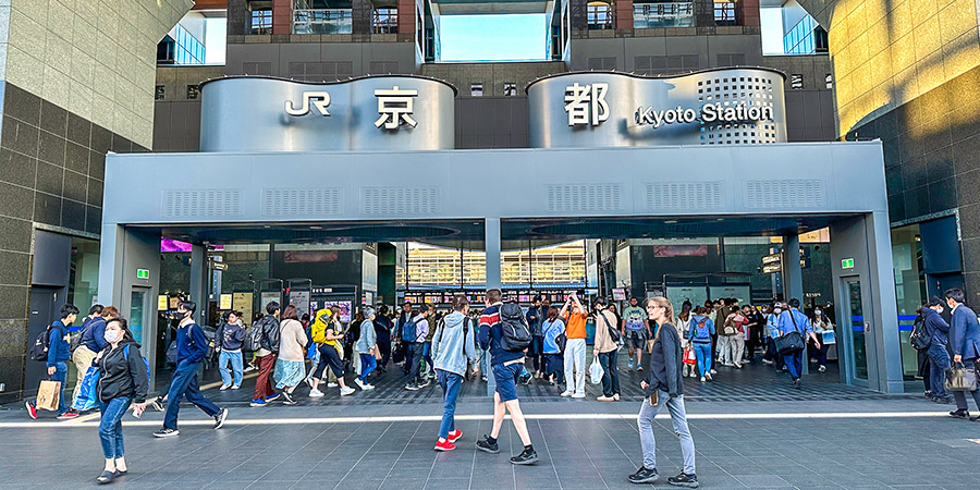
<svg viewBox="0 0 980 490">
<path fill-rule="evenodd" d="M 976 370 L 977 359 L 980 359 L 980 322 L 977 321 L 977 314 L 963 304 L 965 301 L 963 290 L 954 287 L 947 290 L 943 296 L 953 315 L 953 321 L 950 322 L 950 351 L 953 352 L 953 363 L 963 363 L 968 369 Z M 971 391 L 970 395 L 973 396 L 980 412 L 980 391 Z M 950 415 L 980 421 L 980 415 L 970 417 L 965 392 L 954 391 L 953 397 L 956 399 L 956 409 L 950 412 Z"/>
</svg>

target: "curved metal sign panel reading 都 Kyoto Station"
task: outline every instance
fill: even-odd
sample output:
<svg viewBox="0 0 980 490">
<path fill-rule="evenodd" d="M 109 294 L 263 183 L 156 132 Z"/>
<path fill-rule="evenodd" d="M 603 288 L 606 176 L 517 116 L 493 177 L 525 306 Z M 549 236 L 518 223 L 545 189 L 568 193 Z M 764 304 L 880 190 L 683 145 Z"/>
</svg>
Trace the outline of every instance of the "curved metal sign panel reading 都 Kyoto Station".
<svg viewBox="0 0 980 490">
<path fill-rule="evenodd" d="M 784 77 L 737 68 L 671 77 L 580 72 L 540 78 L 527 87 L 530 146 L 785 142 Z"/>
</svg>

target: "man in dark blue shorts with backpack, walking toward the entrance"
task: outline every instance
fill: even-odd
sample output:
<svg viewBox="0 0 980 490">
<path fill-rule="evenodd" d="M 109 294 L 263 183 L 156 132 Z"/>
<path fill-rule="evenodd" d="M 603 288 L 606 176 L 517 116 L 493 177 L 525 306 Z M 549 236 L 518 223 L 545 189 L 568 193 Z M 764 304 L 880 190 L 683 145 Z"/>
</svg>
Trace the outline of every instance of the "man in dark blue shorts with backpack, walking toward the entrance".
<svg viewBox="0 0 980 490">
<path fill-rule="evenodd" d="M 520 412 L 520 402 L 517 401 L 517 378 L 520 376 L 520 368 L 524 367 L 524 351 L 504 350 L 501 308 L 516 309 L 514 315 L 517 318 L 524 315 L 519 305 L 516 303 L 504 305 L 502 298 L 500 290 L 487 291 L 487 308 L 480 316 L 480 345 L 490 348 L 490 369 L 493 370 L 493 379 L 497 380 L 497 391 L 493 393 L 493 428 L 490 436 L 483 436 L 483 439 L 477 441 L 477 449 L 491 454 L 500 453 L 497 438 L 500 436 L 504 414 L 510 412 L 514 429 L 517 430 L 517 436 L 524 444 L 524 451 L 511 457 L 511 464 L 532 465 L 538 462 L 538 453 L 531 445 L 527 422 L 524 420 L 524 413 Z M 510 315 L 506 310 L 504 314 Z"/>
</svg>

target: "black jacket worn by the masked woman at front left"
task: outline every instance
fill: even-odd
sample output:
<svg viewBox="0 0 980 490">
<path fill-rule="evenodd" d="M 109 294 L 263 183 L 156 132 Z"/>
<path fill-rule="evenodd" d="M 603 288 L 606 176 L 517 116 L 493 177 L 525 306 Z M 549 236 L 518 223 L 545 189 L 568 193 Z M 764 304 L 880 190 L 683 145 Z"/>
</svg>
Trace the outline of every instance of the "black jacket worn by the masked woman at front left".
<svg viewBox="0 0 980 490">
<path fill-rule="evenodd" d="M 102 358 L 94 360 L 93 364 L 102 371 L 98 383 L 99 400 L 108 403 L 112 399 L 127 396 L 133 399 L 134 403 L 146 402 L 149 373 L 146 372 L 139 344 L 135 341 L 125 339 L 115 348 L 107 344 L 102 351 Z"/>
</svg>

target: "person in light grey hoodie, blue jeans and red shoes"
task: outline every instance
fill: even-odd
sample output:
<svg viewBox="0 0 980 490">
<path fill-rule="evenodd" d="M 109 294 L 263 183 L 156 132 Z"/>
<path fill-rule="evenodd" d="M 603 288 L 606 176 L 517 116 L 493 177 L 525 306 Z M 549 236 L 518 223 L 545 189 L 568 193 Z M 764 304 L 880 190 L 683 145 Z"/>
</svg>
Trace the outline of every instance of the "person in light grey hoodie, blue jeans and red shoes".
<svg viewBox="0 0 980 490">
<path fill-rule="evenodd" d="M 445 316 L 432 338 L 432 359 L 436 365 L 436 379 L 442 387 L 442 425 L 436 451 L 452 451 L 455 442 L 463 437 L 456 429 L 456 397 L 466 376 L 467 360 L 476 365 L 479 354 L 476 350 L 476 329 L 469 318 L 469 299 L 465 294 L 453 296 L 453 313 Z M 477 369 L 474 368 L 474 375 Z"/>
</svg>

